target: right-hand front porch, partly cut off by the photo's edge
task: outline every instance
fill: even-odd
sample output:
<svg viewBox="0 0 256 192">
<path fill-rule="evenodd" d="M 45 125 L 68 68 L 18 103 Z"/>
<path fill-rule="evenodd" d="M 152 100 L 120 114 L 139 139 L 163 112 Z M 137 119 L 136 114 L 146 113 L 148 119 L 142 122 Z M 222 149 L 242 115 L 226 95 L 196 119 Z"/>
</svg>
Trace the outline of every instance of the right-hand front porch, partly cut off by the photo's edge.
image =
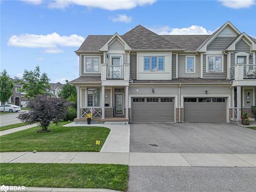
<svg viewBox="0 0 256 192">
<path fill-rule="evenodd" d="M 252 107 L 256 106 L 256 87 L 236 86 L 233 87 L 233 108 L 231 121 L 240 123 L 241 115 L 247 113 L 250 122 L 256 122 L 256 114 Z"/>
</svg>

